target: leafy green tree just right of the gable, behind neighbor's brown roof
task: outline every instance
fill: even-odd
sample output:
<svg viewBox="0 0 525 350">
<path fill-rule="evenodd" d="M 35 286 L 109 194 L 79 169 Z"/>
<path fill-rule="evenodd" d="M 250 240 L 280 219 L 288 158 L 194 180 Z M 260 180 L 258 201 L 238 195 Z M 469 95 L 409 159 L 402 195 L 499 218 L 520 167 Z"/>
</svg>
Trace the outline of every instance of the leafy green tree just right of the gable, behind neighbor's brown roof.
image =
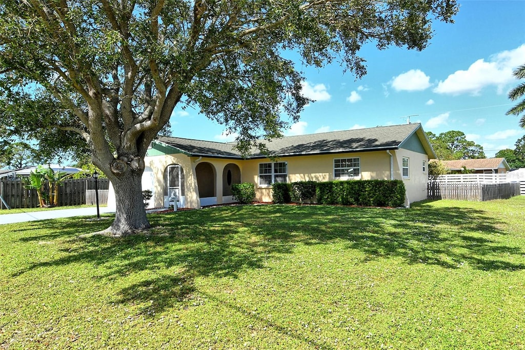
<svg viewBox="0 0 525 350">
<path fill-rule="evenodd" d="M 436 152 L 437 159 L 458 160 L 486 158 L 483 147 L 474 141 L 467 140 L 463 131 L 451 130 L 436 135 L 426 132 L 430 144 Z"/>
</svg>

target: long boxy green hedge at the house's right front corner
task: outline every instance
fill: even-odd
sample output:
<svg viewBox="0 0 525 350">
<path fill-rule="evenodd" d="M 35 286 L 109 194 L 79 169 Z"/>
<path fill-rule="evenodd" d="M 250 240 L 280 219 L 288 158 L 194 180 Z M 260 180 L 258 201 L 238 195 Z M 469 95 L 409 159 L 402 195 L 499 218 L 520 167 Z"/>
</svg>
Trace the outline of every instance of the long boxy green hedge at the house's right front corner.
<svg viewBox="0 0 525 350">
<path fill-rule="evenodd" d="M 405 184 L 401 180 L 329 181 L 317 183 L 319 204 L 403 207 Z"/>
</svg>

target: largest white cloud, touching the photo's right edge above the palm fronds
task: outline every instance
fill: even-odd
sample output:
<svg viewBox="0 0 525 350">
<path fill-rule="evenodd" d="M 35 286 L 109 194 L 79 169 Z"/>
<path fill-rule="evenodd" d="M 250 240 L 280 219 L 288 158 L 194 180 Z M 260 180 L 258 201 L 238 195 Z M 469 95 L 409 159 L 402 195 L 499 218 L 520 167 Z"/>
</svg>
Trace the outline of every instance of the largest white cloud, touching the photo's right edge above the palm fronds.
<svg viewBox="0 0 525 350">
<path fill-rule="evenodd" d="M 512 71 L 523 64 L 523 57 L 525 57 L 525 44 L 492 55 L 488 61 L 483 58 L 478 59 L 467 70 L 457 70 L 445 80 L 439 81 L 434 92 L 479 95 L 483 88 L 496 86 L 498 94 L 502 94 L 505 85 L 514 81 Z"/>
</svg>

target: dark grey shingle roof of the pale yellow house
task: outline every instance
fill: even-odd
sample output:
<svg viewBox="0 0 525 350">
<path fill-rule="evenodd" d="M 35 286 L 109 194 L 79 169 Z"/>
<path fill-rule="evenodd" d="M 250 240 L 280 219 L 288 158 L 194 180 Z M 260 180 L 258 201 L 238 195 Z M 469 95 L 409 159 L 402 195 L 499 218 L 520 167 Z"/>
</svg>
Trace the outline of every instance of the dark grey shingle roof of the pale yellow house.
<svg viewBox="0 0 525 350">
<path fill-rule="evenodd" d="M 366 129 L 342 130 L 309 135 L 287 136 L 264 141 L 272 156 L 299 156 L 356 151 L 397 149 L 401 143 L 421 128 L 421 124 L 403 124 Z M 220 143 L 177 137 L 161 137 L 159 141 L 191 156 L 241 158 L 235 142 Z M 247 158 L 266 158 L 258 150 Z"/>
</svg>

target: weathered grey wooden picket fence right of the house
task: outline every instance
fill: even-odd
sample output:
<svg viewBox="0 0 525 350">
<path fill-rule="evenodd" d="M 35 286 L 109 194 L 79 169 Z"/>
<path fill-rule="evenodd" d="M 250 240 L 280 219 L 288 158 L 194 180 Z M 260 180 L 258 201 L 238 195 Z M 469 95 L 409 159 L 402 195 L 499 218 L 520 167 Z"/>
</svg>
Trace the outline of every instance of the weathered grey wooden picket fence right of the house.
<svg viewBox="0 0 525 350">
<path fill-rule="evenodd" d="M 509 199 L 519 194 L 519 182 L 434 182 L 427 185 L 428 199 L 490 201 L 493 199 Z"/>
</svg>

